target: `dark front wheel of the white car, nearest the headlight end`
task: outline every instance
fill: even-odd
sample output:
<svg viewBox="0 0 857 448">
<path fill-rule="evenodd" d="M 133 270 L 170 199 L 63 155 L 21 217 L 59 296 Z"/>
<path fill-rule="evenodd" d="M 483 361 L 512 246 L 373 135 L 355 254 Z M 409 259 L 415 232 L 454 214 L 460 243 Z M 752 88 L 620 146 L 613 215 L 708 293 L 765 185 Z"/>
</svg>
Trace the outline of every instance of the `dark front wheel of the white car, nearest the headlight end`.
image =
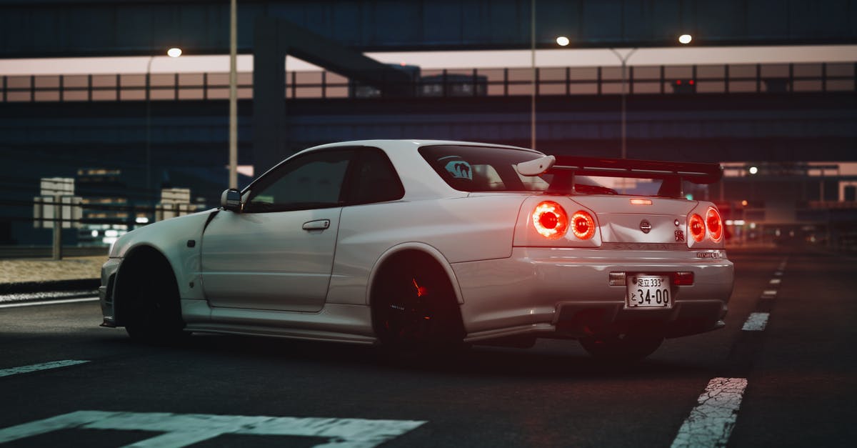
<svg viewBox="0 0 857 448">
<path fill-rule="evenodd" d="M 128 300 L 125 330 L 131 339 L 153 345 L 182 341 L 185 333 L 176 277 L 169 265 L 154 263 L 143 272 L 143 263 L 133 263 L 130 285 L 124 289 Z"/>
</svg>

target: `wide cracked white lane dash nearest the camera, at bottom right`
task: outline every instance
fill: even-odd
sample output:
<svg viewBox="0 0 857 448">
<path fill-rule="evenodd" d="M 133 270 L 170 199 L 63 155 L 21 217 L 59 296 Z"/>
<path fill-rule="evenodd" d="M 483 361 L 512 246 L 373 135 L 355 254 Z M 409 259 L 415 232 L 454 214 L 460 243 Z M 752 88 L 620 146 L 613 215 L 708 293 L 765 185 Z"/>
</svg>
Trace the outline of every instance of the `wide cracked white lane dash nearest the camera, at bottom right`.
<svg viewBox="0 0 857 448">
<path fill-rule="evenodd" d="M 712 379 L 699 396 L 691 415 L 679 428 L 672 448 L 726 446 L 738 418 L 746 386 L 746 378 Z"/>
</svg>

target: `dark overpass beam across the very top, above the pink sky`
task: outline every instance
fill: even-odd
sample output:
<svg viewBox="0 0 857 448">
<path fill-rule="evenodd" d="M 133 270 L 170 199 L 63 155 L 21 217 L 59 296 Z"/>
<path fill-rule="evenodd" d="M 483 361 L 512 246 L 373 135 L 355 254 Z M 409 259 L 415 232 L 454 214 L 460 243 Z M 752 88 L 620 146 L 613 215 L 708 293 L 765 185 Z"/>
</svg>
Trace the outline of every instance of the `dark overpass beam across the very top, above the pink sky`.
<svg viewBox="0 0 857 448">
<path fill-rule="evenodd" d="M 256 16 L 287 19 L 359 52 L 526 49 L 530 0 L 242 0 L 238 51 Z M 229 51 L 223 0 L 0 0 L 0 58 L 137 56 L 181 46 Z M 857 0 L 537 0 L 536 47 L 853 45 Z"/>
</svg>

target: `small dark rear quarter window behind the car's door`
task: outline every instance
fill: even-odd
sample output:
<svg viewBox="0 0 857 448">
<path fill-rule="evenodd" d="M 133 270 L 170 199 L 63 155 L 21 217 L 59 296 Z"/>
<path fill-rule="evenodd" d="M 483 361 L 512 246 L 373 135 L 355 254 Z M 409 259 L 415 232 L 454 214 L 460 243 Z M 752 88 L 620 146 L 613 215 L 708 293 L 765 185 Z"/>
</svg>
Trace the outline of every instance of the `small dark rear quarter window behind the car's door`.
<svg viewBox="0 0 857 448">
<path fill-rule="evenodd" d="M 405 188 L 387 154 L 380 149 L 364 148 L 357 160 L 348 191 L 349 204 L 382 203 L 405 196 Z"/>
</svg>

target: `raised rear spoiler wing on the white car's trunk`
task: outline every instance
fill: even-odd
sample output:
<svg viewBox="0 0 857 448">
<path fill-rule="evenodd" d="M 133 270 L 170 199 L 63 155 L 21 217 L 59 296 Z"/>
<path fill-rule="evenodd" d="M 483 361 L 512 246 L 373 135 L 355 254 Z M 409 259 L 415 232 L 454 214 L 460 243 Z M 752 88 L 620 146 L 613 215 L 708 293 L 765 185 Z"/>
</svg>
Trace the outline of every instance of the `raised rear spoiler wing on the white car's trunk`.
<svg viewBox="0 0 857 448">
<path fill-rule="evenodd" d="M 573 191 L 574 176 L 662 179 L 662 196 L 681 196 L 681 182 L 713 184 L 723 176 L 717 163 L 674 162 L 661 160 L 599 159 L 568 155 L 547 155 L 518 164 L 518 173 L 538 176 L 542 173 L 566 174 L 567 179 L 552 182 L 551 191 Z"/>
</svg>

